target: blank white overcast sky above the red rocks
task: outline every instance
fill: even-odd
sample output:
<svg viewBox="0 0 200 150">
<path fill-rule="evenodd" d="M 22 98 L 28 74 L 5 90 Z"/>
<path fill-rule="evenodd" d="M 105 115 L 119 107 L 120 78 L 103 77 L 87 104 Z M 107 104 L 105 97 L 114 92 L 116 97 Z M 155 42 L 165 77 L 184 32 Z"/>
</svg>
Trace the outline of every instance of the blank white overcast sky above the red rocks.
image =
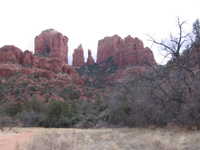
<svg viewBox="0 0 200 150">
<path fill-rule="evenodd" d="M 34 49 L 34 38 L 54 28 L 69 38 L 70 55 L 83 44 L 96 55 L 105 36 L 132 35 L 151 47 L 146 35 L 164 39 L 176 31 L 176 19 L 186 20 L 186 30 L 200 17 L 200 0 L 1 0 L 0 47 Z M 152 47 L 155 58 L 162 57 Z"/>
</svg>

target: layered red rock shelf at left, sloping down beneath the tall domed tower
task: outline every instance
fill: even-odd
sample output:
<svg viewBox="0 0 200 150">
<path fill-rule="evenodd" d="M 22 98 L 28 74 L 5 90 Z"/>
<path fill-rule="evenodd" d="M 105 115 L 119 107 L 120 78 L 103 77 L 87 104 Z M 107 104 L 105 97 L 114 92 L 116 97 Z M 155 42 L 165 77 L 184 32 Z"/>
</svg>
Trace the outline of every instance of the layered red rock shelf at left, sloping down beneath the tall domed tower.
<svg viewBox="0 0 200 150">
<path fill-rule="evenodd" d="M 48 79 L 59 79 L 61 78 L 59 73 L 63 73 L 64 76 L 70 77 L 70 82 L 83 84 L 83 80 L 76 70 L 68 66 L 60 57 L 40 57 L 33 55 L 28 50 L 22 52 L 15 46 L 0 48 L 0 76 L 7 78 L 17 73 L 23 75 L 37 74 L 38 77 Z"/>
</svg>

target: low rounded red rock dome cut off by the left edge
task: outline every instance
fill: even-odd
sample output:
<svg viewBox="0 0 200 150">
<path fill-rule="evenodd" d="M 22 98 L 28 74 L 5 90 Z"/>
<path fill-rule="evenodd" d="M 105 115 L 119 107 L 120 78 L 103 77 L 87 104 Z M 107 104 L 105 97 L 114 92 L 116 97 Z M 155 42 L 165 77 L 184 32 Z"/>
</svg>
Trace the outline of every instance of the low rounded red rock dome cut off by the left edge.
<svg viewBox="0 0 200 150">
<path fill-rule="evenodd" d="M 0 48 L 0 63 L 15 63 L 19 64 L 22 61 L 23 53 L 21 49 L 7 45 Z"/>
</svg>

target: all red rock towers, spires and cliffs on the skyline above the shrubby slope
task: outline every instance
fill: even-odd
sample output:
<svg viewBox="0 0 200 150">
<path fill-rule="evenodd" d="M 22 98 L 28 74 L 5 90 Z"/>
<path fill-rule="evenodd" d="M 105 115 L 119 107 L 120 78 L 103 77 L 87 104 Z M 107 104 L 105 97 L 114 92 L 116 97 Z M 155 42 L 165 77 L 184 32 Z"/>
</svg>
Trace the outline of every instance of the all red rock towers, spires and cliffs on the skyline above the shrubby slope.
<svg viewBox="0 0 200 150">
<path fill-rule="evenodd" d="M 0 48 L 0 64 L 4 64 L 0 67 L 0 75 L 11 75 L 12 72 L 20 69 L 24 73 L 38 71 L 39 69 L 40 72 L 43 70 L 43 74 L 46 72 L 48 77 L 63 72 L 78 78 L 78 73 L 73 66 L 81 67 L 95 64 L 91 50 L 88 50 L 88 58 L 84 62 L 82 45 L 74 50 L 72 66 L 67 65 L 67 57 L 68 38 L 56 30 L 45 30 L 35 38 L 34 54 L 30 51 L 22 52 L 15 46 Z M 101 64 L 111 57 L 118 67 L 156 64 L 152 51 L 145 48 L 141 40 L 131 36 L 122 39 L 118 35 L 114 35 L 105 37 L 98 42 L 97 64 Z M 12 65 L 9 66 L 9 64 Z"/>
</svg>

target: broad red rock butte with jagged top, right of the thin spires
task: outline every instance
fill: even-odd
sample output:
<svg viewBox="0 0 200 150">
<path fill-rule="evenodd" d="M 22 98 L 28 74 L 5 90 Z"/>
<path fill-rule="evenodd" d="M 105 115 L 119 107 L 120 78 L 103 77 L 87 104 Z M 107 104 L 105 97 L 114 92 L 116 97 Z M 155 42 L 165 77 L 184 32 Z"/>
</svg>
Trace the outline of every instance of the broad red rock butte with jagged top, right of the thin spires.
<svg viewBox="0 0 200 150">
<path fill-rule="evenodd" d="M 100 40 L 97 63 L 100 64 L 110 57 L 113 57 L 114 63 L 119 67 L 155 64 L 152 51 L 149 48 L 144 48 L 141 40 L 131 36 L 122 39 L 118 35 L 114 35 Z"/>
</svg>

